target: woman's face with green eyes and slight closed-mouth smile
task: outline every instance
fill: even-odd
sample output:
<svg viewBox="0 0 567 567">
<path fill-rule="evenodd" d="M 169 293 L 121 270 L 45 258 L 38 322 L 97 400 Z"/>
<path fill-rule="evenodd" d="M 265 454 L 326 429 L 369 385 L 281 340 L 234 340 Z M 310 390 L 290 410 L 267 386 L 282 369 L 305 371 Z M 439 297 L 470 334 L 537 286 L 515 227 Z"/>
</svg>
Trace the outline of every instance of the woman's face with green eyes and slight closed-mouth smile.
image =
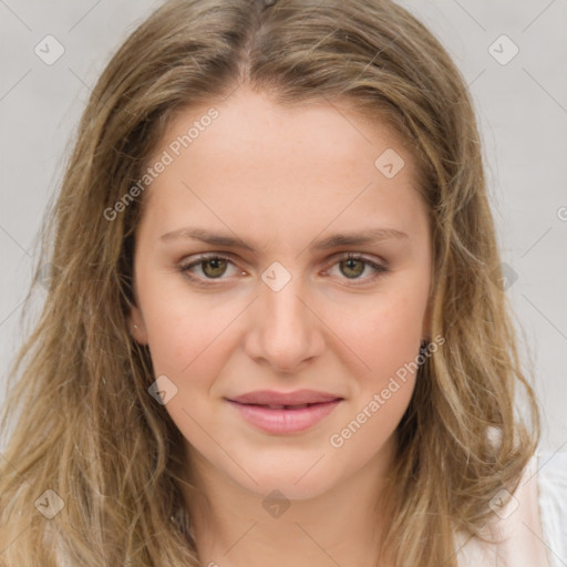
<svg viewBox="0 0 567 567">
<path fill-rule="evenodd" d="M 215 109 L 176 118 L 143 196 L 131 322 L 152 392 L 203 478 L 307 498 L 381 474 L 429 331 L 414 163 L 324 101 L 240 87 Z"/>
</svg>

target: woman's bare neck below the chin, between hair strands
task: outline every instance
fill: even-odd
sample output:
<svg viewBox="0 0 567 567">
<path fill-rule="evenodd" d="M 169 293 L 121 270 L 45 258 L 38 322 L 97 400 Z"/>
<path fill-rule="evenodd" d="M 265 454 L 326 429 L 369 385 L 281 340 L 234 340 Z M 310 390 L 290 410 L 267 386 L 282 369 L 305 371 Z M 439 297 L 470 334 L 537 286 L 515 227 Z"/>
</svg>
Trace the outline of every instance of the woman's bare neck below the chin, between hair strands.
<svg viewBox="0 0 567 567">
<path fill-rule="evenodd" d="M 388 456 L 388 458 L 385 458 Z M 206 463 L 184 489 L 200 563 L 210 567 L 372 567 L 380 551 L 378 503 L 392 446 L 355 475 L 311 498 L 256 494 Z"/>
</svg>

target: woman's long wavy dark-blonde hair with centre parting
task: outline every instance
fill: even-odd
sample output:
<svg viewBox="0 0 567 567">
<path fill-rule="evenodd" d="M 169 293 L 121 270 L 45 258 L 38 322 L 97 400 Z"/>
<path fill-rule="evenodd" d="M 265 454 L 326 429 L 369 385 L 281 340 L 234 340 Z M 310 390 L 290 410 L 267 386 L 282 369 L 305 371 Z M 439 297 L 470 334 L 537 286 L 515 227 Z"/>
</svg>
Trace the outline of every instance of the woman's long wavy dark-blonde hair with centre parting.
<svg viewBox="0 0 567 567">
<path fill-rule="evenodd" d="M 430 331 L 446 343 L 420 367 L 396 430 L 382 558 L 454 567 L 455 529 L 477 534 L 535 451 L 538 408 L 518 361 L 474 110 L 437 40 L 389 0 L 173 0 L 100 78 L 45 217 L 35 277 L 49 262 L 49 290 L 2 414 L 2 431 L 13 430 L 0 458 L 9 567 L 199 565 L 181 504 L 181 433 L 148 394 L 150 351 L 127 328 L 145 198 L 113 221 L 104 210 L 141 178 L 178 112 L 243 83 L 281 105 L 347 102 L 395 127 L 419 165 L 434 244 Z M 34 506 L 47 489 L 64 502 L 52 519 Z"/>
</svg>

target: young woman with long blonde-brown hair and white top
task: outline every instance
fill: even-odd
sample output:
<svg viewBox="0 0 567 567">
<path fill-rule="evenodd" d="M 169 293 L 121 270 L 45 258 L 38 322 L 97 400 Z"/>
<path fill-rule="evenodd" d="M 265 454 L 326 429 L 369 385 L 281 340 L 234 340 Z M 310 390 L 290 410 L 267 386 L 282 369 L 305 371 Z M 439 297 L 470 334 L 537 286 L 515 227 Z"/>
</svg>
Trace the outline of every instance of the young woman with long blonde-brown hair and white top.
<svg viewBox="0 0 567 567">
<path fill-rule="evenodd" d="M 48 228 L 6 565 L 564 559 L 470 96 L 402 8 L 165 3 Z"/>
</svg>

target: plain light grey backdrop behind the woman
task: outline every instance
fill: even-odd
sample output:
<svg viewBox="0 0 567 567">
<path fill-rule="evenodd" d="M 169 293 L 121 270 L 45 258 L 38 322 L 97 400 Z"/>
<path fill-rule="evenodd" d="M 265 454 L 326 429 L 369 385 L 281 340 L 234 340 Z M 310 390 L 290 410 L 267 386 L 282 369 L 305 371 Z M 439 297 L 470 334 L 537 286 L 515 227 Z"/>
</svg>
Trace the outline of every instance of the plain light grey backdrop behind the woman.
<svg viewBox="0 0 567 567">
<path fill-rule="evenodd" d="M 27 332 L 19 319 L 35 234 L 70 136 L 111 54 L 161 3 L 0 0 L 0 404 Z M 437 35 L 471 87 L 507 293 L 527 338 L 522 355 L 535 363 L 542 449 L 567 451 L 567 1 L 400 3 Z"/>
</svg>

